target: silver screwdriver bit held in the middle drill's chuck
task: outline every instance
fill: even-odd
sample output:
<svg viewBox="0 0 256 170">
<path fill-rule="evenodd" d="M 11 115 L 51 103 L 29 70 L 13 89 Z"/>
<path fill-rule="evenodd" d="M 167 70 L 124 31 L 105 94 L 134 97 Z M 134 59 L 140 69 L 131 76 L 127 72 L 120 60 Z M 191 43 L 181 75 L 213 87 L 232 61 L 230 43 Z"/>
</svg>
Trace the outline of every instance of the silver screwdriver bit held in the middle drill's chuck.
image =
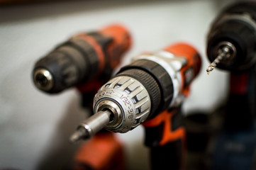
<svg viewBox="0 0 256 170">
<path fill-rule="evenodd" d="M 96 132 L 103 129 L 111 118 L 111 111 L 99 111 L 92 115 L 89 119 L 85 120 L 79 125 L 77 131 L 70 137 L 70 142 L 77 142 L 79 140 L 87 140 Z"/>
</svg>

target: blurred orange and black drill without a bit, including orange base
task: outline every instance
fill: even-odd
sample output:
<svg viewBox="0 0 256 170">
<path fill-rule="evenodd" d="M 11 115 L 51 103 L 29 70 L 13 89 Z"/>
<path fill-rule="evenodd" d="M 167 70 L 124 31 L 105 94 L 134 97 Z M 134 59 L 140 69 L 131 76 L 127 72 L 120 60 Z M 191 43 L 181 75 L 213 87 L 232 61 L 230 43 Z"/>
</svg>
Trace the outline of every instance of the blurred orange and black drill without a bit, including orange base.
<svg viewBox="0 0 256 170">
<path fill-rule="evenodd" d="M 130 33 L 119 25 L 74 35 L 36 62 L 33 69 L 35 86 L 48 94 L 58 94 L 75 86 L 82 94 L 82 106 L 92 108 L 96 91 L 110 79 L 130 45 Z M 102 146 L 104 151 L 99 150 Z M 96 161 L 91 157 L 87 159 L 91 152 L 101 157 Z M 101 166 L 121 169 L 122 152 L 121 142 L 110 132 L 101 131 L 77 151 L 73 169 L 98 169 Z M 108 163 L 116 159 L 118 164 Z"/>
</svg>

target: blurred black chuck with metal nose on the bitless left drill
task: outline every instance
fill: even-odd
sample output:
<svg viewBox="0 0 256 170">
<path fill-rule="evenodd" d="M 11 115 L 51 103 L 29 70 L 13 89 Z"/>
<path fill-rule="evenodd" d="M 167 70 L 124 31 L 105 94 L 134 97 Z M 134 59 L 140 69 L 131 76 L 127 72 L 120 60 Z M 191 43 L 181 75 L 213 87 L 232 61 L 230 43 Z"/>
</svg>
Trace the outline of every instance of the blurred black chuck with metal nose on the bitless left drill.
<svg viewBox="0 0 256 170">
<path fill-rule="evenodd" d="M 35 64 L 33 81 L 41 91 L 59 93 L 82 81 L 89 74 L 88 66 L 89 62 L 84 60 L 79 50 L 70 45 L 61 45 Z"/>
</svg>

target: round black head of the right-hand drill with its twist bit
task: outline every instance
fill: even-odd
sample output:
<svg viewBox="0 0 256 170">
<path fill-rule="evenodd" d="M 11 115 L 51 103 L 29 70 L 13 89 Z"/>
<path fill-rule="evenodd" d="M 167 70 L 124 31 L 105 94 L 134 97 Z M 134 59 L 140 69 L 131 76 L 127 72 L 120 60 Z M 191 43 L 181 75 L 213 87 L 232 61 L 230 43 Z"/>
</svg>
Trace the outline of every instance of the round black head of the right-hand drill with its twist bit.
<svg viewBox="0 0 256 170">
<path fill-rule="evenodd" d="M 210 67 L 239 71 L 255 64 L 255 11 L 255 2 L 240 2 L 226 8 L 213 21 L 207 38 L 207 55 L 213 62 Z"/>
</svg>

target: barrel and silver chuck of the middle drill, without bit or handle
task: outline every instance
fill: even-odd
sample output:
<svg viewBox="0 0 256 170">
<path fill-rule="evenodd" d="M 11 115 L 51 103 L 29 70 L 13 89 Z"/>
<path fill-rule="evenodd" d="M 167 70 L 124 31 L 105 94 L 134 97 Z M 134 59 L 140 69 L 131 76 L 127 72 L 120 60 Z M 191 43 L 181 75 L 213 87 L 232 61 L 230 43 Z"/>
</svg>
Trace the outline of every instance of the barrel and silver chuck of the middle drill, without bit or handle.
<svg viewBox="0 0 256 170">
<path fill-rule="evenodd" d="M 185 44 L 139 55 L 99 89 L 94 97 L 94 113 L 116 108 L 105 128 L 128 132 L 161 111 L 179 106 L 200 64 L 196 50 Z"/>
</svg>

